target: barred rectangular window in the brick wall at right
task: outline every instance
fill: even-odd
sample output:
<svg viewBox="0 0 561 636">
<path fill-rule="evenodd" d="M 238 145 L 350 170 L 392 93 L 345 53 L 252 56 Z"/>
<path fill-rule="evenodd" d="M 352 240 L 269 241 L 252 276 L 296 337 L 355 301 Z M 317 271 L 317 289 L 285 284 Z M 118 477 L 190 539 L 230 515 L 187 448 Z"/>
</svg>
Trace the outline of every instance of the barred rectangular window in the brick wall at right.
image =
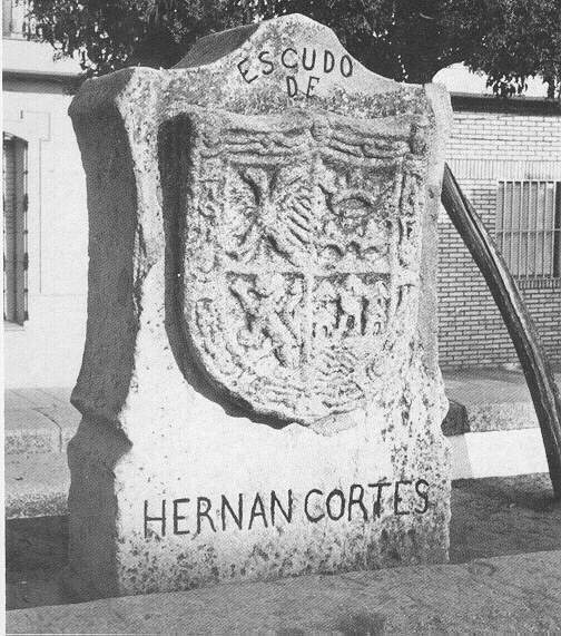
<svg viewBox="0 0 561 636">
<path fill-rule="evenodd" d="M 499 182 L 496 239 L 513 276 L 561 275 L 561 182 Z"/>
</svg>

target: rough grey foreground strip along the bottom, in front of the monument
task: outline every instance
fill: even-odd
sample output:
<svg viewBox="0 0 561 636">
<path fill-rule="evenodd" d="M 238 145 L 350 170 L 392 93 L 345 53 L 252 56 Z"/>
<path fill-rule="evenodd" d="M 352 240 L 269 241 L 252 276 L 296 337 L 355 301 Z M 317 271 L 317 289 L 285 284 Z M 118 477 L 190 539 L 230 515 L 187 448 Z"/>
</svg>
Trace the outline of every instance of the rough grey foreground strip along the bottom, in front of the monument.
<svg viewBox="0 0 561 636">
<path fill-rule="evenodd" d="M 561 552 L 33 607 L 10 634 L 557 634 Z"/>
</svg>

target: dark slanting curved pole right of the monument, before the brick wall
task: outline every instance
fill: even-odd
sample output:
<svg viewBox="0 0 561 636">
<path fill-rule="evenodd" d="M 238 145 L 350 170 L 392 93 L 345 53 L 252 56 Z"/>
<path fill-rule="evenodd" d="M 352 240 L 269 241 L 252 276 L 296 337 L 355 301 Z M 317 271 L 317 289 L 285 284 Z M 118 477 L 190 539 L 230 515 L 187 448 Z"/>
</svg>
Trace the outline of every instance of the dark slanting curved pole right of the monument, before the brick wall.
<svg viewBox="0 0 561 636">
<path fill-rule="evenodd" d="M 442 204 L 485 277 L 516 349 L 540 422 L 553 492 L 561 499 L 561 398 L 533 321 L 506 263 L 447 164 Z"/>
</svg>

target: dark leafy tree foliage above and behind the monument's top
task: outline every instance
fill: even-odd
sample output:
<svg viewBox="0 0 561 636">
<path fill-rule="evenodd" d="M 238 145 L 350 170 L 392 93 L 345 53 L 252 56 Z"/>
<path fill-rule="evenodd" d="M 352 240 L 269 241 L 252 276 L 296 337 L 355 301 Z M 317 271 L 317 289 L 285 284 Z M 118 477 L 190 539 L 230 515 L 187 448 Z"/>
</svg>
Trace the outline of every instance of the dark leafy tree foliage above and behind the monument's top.
<svg viewBox="0 0 561 636">
<path fill-rule="evenodd" d="M 499 95 L 540 75 L 561 95 L 560 0 L 35 0 L 39 37 L 79 52 L 90 75 L 131 63 L 170 67 L 209 32 L 299 12 L 334 29 L 366 67 L 430 81 L 463 61 Z"/>
</svg>

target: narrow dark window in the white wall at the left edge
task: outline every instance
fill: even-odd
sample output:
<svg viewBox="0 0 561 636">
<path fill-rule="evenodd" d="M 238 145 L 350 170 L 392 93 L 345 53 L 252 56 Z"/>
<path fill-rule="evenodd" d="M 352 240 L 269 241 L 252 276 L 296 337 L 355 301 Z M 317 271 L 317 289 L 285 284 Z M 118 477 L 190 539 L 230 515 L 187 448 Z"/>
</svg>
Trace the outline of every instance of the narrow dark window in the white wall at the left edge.
<svg viewBox="0 0 561 636">
<path fill-rule="evenodd" d="M 27 144 L 3 136 L 3 316 L 22 324 L 27 312 Z"/>
</svg>

